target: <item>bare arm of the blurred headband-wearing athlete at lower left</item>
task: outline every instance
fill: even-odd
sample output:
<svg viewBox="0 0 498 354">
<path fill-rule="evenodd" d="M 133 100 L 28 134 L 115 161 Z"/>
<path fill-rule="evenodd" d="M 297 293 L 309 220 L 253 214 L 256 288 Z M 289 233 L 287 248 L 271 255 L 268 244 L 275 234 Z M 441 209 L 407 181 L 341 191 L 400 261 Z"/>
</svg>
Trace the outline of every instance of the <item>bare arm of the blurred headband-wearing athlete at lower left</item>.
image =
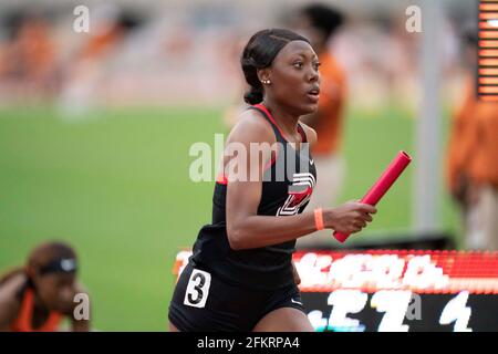
<svg viewBox="0 0 498 354">
<path fill-rule="evenodd" d="M 15 294 L 24 284 L 22 274 L 15 275 L 0 287 L 0 332 L 10 332 L 10 325 L 19 312 L 21 303 Z"/>
</svg>

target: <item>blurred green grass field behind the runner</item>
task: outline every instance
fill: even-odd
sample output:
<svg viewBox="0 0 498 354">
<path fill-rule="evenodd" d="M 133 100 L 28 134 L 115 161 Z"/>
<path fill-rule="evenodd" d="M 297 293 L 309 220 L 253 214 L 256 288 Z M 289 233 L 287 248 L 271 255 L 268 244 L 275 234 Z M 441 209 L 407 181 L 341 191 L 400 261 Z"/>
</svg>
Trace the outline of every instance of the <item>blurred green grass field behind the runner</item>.
<svg viewBox="0 0 498 354">
<path fill-rule="evenodd" d="M 0 108 L 0 272 L 42 240 L 66 240 L 80 254 L 97 330 L 166 330 L 174 257 L 211 212 L 212 183 L 189 180 L 188 149 L 214 144 L 221 112 L 115 108 L 71 123 L 51 108 Z M 395 108 L 349 112 L 342 200 L 360 198 L 397 150 L 414 152 L 414 123 Z M 414 157 L 370 230 L 409 228 Z M 457 232 L 442 198 L 442 228 Z"/>
</svg>

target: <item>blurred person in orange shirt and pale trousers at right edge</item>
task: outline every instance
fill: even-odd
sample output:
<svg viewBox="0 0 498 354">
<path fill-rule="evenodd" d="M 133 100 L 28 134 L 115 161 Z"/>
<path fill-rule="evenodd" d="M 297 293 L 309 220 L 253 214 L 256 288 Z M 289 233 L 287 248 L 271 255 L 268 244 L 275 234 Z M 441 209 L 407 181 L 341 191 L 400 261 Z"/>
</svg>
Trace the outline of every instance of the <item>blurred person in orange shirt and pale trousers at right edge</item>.
<svg viewBox="0 0 498 354">
<path fill-rule="evenodd" d="M 498 102 L 477 97 L 476 33 L 466 35 L 470 70 L 463 105 L 453 121 L 446 177 L 461 207 L 465 247 L 498 250 Z"/>
</svg>

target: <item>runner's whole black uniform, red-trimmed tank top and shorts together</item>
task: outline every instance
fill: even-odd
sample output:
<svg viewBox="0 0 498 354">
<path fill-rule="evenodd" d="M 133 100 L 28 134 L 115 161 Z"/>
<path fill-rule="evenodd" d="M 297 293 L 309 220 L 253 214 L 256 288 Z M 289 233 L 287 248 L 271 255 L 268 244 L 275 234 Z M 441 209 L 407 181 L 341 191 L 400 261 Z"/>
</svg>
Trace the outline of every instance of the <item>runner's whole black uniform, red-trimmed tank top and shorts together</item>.
<svg viewBox="0 0 498 354">
<path fill-rule="evenodd" d="M 271 124 L 277 143 L 281 144 L 264 170 L 257 215 L 301 214 L 317 183 L 308 144 L 301 144 L 297 150 L 263 105 L 249 110 L 256 110 Z M 298 131 L 301 142 L 307 143 L 300 124 Z M 267 313 L 280 308 L 305 313 L 292 273 L 295 240 L 232 250 L 227 237 L 227 180 L 219 178 L 212 197 L 211 223 L 200 229 L 169 303 L 168 319 L 180 331 L 247 332 Z"/>
</svg>

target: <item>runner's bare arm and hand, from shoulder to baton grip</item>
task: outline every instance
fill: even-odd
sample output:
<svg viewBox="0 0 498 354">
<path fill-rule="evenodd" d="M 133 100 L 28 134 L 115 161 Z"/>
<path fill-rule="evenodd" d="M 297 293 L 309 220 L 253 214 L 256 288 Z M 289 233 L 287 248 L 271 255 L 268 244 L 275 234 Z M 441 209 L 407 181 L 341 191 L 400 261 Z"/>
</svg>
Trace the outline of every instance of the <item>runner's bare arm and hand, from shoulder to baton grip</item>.
<svg viewBox="0 0 498 354">
<path fill-rule="evenodd" d="M 246 147 L 246 158 L 237 159 L 237 163 L 243 163 L 245 160 L 245 164 L 240 164 L 240 166 L 247 168 L 246 176 L 252 176 L 256 173 L 259 178 L 249 181 L 232 180 L 234 175 L 227 174 L 229 180 L 226 217 L 230 247 L 235 250 L 259 248 L 294 240 L 315 231 L 313 211 L 289 217 L 257 215 L 261 200 L 266 160 L 251 158 L 250 143 L 272 144 L 276 142 L 269 123 L 252 111 L 243 113 L 240 122 L 230 133 L 227 145 L 234 142 Z M 234 160 L 236 158 L 232 158 L 230 163 L 234 163 Z M 227 158 L 224 162 L 227 164 Z M 372 206 L 356 201 L 349 202 L 338 208 L 324 209 L 323 223 L 325 228 L 339 232 L 354 233 L 372 220 L 370 214 L 374 212 L 376 212 L 376 209 Z"/>
</svg>

